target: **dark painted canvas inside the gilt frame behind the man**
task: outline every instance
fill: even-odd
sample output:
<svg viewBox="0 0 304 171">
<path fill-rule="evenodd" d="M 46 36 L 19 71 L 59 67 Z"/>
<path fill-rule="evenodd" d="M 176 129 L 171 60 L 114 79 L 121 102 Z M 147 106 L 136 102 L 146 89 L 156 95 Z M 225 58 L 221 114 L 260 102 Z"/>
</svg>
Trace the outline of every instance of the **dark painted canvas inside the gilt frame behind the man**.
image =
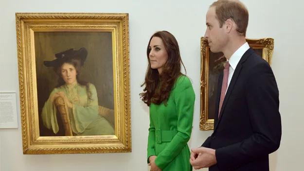
<svg viewBox="0 0 304 171">
<path fill-rule="evenodd" d="M 263 49 L 253 49 L 259 56 L 263 57 Z M 215 119 L 216 93 L 218 89 L 218 77 L 224 70 L 226 58 L 218 60 L 224 54 L 213 53 L 209 49 L 209 75 L 208 75 L 208 120 Z M 218 60 L 218 61 L 217 61 Z"/>
</svg>

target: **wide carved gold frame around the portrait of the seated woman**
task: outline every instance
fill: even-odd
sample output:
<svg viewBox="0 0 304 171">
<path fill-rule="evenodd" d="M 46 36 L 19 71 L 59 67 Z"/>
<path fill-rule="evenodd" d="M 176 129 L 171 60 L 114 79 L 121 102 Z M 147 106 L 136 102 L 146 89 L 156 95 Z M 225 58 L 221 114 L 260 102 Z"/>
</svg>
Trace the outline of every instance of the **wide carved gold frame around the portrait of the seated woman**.
<svg viewBox="0 0 304 171">
<path fill-rule="evenodd" d="M 16 13 L 16 32 L 23 154 L 131 152 L 128 14 Z M 108 51 L 112 55 L 107 61 L 112 63 L 108 72 L 113 75 L 110 77 L 112 79 L 110 86 L 113 89 L 113 109 L 111 110 L 114 111 L 114 135 L 40 136 L 36 78 L 38 74 L 36 67 L 39 66 L 35 62 L 38 55 L 35 53 L 35 49 L 38 48 L 35 44 L 36 32 L 63 34 L 65 32 L 75 34 L 76 32 L 97 34 L 107 32 L 109 34 L 111 43 L 108 46 L 112 48 Z M 101 46 L 103 45 L 99 44 L 98 47 Z M 89 55 L 92 53 L 89 51 Z M 103 80 L 96 82 L 100 81 Z M 58 103 L 63 103 L 63 101 L 58 101 Z"/>
</svg>

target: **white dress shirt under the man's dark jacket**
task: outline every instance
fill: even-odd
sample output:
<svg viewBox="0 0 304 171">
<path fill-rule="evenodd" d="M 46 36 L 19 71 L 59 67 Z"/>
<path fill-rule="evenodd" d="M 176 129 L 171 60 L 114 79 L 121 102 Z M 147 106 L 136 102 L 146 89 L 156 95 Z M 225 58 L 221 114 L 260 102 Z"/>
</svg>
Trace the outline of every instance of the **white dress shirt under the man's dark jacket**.
<svg viewBox="0 0 304 171">
<path fill-rule="evenodd" d="M 228 85 L 227 85 L 227 90 L 228 90 L 228 87 L 229 87 L 229 84 L 230 84 L 230 81 L 232 79 L 232 75 L 234 73 L 234 70 L 238 64 L 238 62 L 240 61 L 240 59 L 242 58 L 243 54 L 249 49 L 249 45 L 248 43 L 244 43 L 238 50 L 236 50 L 232 56 L 230 57 L 229 60 L 229 64 L 230 64 L 230 67 L 229 67 L 229 75 L 228 75 Z M 226 90 L 226 93 L 227 93 L 227 90 Z"/>
</svg>

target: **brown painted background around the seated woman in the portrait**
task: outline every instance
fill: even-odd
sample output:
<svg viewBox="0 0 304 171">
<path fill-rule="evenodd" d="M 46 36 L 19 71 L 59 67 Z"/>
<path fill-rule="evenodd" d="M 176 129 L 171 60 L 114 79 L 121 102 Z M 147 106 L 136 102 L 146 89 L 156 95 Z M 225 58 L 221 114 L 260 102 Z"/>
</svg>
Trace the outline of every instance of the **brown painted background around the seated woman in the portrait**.
<svg viewBox="0 0 304 171">
<path fill-rule="evenodd" d="M 95 85 L 99 105 L 114 109 L 111 32 L 35 32 L 34 36 L 40 136 L 55 136 L 43 125 L 40 117 L 58 79 L 53 68 L 45 67 L 43 61 L 54 60 L 55 53 L 86 48 L 88 56 L 80 79 Z M 63 128 L 58 124 L 60 131 L 56 136 L 64 136 Z"/>
</svg>

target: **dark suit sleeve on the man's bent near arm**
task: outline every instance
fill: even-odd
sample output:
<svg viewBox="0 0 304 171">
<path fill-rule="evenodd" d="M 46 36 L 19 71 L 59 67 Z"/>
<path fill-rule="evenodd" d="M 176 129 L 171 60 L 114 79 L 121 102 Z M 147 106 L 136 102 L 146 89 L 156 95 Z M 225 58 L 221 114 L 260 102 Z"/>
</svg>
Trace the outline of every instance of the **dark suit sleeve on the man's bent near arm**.
<svg viewBox="0 0 304 171">
<path fill-rule="evenodd" d="M 246 102 L 253 135 L 239 143 L 215 150 L 217 166 L 223 170 L 267 156 L 280 146 L 282 126 L 279 90 L 272 70 L 267 62 L 259 63 L 247 78 Z"/>
</svg>

